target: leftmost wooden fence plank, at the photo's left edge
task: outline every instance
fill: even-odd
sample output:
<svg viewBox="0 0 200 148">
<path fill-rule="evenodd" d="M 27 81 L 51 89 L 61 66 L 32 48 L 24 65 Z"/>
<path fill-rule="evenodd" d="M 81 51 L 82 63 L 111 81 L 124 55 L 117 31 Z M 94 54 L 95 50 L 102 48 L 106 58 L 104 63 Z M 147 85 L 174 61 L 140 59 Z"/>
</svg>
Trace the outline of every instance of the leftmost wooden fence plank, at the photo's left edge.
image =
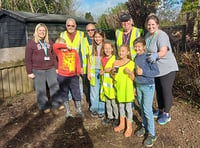
<svg viewBox="0 0 200 148">
<path fill-rule="evenodd" d="M 8 70 L 2 70 L 2 80 L 3 80 L 3 97 L 10 97 L 10 87 L 9 87 L 9 78 L 8 78 Z"/>
</svg>

